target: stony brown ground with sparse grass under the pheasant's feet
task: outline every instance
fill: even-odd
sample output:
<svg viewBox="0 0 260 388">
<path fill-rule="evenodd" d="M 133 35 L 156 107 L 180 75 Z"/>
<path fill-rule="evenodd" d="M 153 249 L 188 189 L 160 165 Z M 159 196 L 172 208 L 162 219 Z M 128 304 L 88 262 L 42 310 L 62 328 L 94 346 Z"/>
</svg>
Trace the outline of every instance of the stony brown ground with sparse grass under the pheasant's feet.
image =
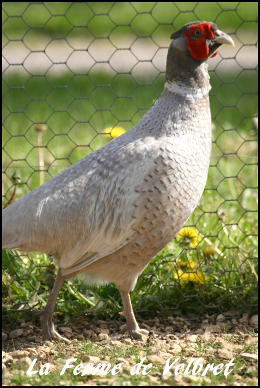
<svg viewBox="0 0 260 388">
<path fill-rule="evenodd" d="M 233 311 L 220 315 L 205 315 L 196 324 L 172 316 L 163 322 L 158 318 L 147 320 L 140 327 L 151 334 L 142 340 L 118 337 L 117 332 L 124 324 L 122 320 L 112 322 L 106 319 L 94 323 L 79 317 L 69 325 L 57 327 L 70 339 L 70 344 L 46 341 L 39 327 L 20 321 L 15 330 L 4 327 L 3 385 L 256 385 L 258 335 L 256 327 L 252 327 L 256 317 L 249 317 L 246 313 L 239 317 Z M 152 364 L 152 370 L 145 376 L 132 376 L 132 367 L 143 357 L 145 364 Z M 48 375 L 26 375 L 35 358 L 35 370 L 49 363 Z M 62 377 L 59 373 L 68 358 L 77 358 L 77 362 L 93 363 L 94 366 L 99 362 L 120 363 L 120 373 L 115 376 L 103 372 L 93 375 L 89 370 L 82 377 L 69 369 Z M 174 365 L 163 374 L 167 360 L 172 362 L 176 358 Z M 206 366 L 207 363 L 226 365 L 232 358 L 234 366 L 228 376 L 223 373 L 213 375 L 212 372 L 203 377 L 201 373 L 175 374 L 175 368 L 181 368 L 181 363 L 186 365 L 191 359 L 192 365 L 198 360 Z"/>
</svg>

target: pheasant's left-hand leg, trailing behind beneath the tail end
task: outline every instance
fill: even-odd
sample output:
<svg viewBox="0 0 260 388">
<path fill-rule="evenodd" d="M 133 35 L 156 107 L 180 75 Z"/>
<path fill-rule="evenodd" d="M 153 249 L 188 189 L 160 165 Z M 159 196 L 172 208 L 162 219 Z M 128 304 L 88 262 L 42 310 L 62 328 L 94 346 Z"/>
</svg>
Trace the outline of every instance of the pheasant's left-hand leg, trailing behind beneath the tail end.
<svg viewBox="0 0 260 388">
<path fill-rule="evenodd" d="M 41 310 L 33 311 L 35 314 L 40 315 L 40 325 L 45 334 L 45 337 L 52 341 L 54 340 L 63 340 L 70 343 L 67 338 L 62 337 L 55 329 L 52 322 L 52 315 L 54 312 L 54 307 L 56 304 L 57 296 L 61 285 L 63 284 L 64 277 L 61 274 L 60 268 L 58 269 L 57 277 L 55 279 L 54 285 L 50 294 L 47 296 L 47 304 Z"/>
</svg>

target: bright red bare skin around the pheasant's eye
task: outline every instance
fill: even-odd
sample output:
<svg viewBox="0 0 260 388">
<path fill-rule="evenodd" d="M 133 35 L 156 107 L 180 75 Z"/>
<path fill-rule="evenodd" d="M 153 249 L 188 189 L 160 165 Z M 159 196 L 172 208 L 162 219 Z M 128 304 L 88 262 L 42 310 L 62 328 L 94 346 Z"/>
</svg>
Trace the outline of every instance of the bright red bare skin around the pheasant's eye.
<svg viewBox="0 0 260 388">
<path fill-rule="evenodd" d="M 201 31 L 201 37 L 197 39 L 190 39 L 190 36 L 193 36 L 194 30 L 199 29 Z M 187 46 L 190 52 L 190 55 L 197 60 L 203 60 L 207 58 L 209 53 L 208 45 L 206 44 L 206 39 L 213 39 L 214 34 L 210 28 L 209 23 L 200 23 L 192 24 L 189 26 L 188 31 L 183 33 L 186 36 Z M 215 52 L 211 58 L 213 58 L 217 52 Z"/>
</svg>

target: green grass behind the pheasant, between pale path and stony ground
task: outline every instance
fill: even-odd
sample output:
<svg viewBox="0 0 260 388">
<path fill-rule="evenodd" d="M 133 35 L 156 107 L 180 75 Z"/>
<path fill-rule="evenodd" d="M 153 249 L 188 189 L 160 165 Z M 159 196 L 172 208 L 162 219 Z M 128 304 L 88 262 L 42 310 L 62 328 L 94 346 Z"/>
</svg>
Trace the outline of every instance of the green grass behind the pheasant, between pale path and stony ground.
<svg viewBox="0 0 260 388">
<path fill-rule="evenodd" d="M 131 295 L 140 318 L 169 311 L 195 317 L 210 310 L 235 308 L 242 312 L 255 308 L 257 176 L 252 117 L 257 106 L 256 73 L 242 72 L 233 82 L 224 84 L 213 72 L 210 75 L 213 157 L 203 196 L 187 222 L 204 237 L 196 249 L 182 249 L 173 240 L 150 262 Z M 129 74 L 80 77 L 67 73 L 55 79 L 46 76 L 28 80 L 12 74 L 3 78 L 3 204 L 13 192 L 13 174 L 20 177 L 20 183 L 15 184 L 15 200 L 39 185 L 35 122 L 45 122 L 48 127 L 42 134 L 47 180 L 109 141 L 109 136 L 102 134 L 105 127 L 130 128 L 152 105 L 164 84 L 163 74 L 153 79 L 142 77 L 138 83 Z M 228 101 L 236 102 L 235 106 L 226 106 Z M 10 113 L 8 109 L 21 111 Z M 205 259 L 203 247 L 208 244 L 215 244 L 216 252 Z M 22 312 L 23 318 L 30 319 L 33 315 L 28 307 L 34 309 L 45 303 L 54 265 L 49 267 L 45 255 L 30 253 L 29 258 L 13 259 L 15 252 L 6 254 L 4 311 L 11 309 L 8 314 L 13 318 Z M 176 258 L 193 261 L 210 276 L 209 281 L 198 284 L 176 279 Z M 62 287 L 56 311 L 57 319 L 68 322 L 86 311 L 115 317 L 121 308 L 115 285 L 90 289 L 74 280 Z"/>
</svg>

